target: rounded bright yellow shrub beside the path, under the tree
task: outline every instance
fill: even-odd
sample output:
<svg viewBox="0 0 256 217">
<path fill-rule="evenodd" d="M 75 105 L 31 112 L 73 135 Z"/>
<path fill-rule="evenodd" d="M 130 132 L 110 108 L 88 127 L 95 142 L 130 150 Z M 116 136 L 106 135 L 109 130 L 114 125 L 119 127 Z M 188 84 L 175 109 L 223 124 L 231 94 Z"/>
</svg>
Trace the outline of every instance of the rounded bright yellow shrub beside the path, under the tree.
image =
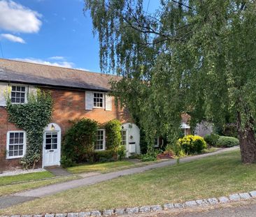
<svg viewBox="0 0 256 217">
<path fill-rule="evenodd" d="M 177 145 L 181 147 L 185 154 L 201 153 L 201 151 L 207 147 L 204 138 L 198 135 L 186 135 L 178 139 Z M 179 151 L 182 152 L 182 150 Z"/>
</svg>

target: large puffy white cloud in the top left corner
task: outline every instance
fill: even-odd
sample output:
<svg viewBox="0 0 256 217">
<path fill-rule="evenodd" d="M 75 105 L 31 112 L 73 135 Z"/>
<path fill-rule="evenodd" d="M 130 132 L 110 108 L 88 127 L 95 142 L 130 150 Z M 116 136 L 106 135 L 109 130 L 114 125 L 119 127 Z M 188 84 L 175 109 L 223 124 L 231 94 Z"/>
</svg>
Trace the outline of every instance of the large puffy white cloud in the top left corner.
<svg viewBox="0 0 256 217">
<path fill-rule="evenodd" d="M 36 33 L 41 27 L 41 15 L 11 0 L 0 0 L 0 29 Z"/>
</svg>

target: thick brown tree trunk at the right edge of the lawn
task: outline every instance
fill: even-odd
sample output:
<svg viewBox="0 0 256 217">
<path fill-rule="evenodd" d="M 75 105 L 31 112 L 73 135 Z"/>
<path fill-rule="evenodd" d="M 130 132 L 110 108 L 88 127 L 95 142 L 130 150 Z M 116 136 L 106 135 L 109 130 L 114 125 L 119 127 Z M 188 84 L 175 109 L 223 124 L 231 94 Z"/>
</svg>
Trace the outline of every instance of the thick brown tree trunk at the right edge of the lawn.
<svg viewBox="0 0 256 217">
<path fill-rule="evenodd" d="M 253 130 L 253 118 L 241 127 L 241 114 L 237 114 L 237 130 L 239 134 L 239 144 L 241 149 L 241 158 L 243 163 L 256 163 L 256 142 Z"/>
</svg>

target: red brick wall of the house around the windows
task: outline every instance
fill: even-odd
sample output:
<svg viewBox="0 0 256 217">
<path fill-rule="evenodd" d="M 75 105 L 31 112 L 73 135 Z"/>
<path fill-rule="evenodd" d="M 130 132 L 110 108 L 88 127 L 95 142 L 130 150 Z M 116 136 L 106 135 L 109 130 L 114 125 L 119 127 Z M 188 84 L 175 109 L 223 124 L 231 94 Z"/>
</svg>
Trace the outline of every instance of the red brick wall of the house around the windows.
<svg viewBox="0 0 256 217">
<path fill-rule="evenodd" d="M 127 112 L 115 106 L 115 99 L 112 99 L 112 110 L 95 108 L 85 110 L 85 91 L 64 90 L 64 89 L 45 89 L 49 90 L 54 100 L 52 113 L 52 123 L 58 124 L 62 128 L 62 135 L 71 126 L 71 121 L 80 118 L 94 119 L 100 124 L 104 124 L 112 119 L 120 119 L 122 123 L 130 121 Z M 6 160 L 6 133 L 8 130 L 17 129 L 14 124 L 8 122 L 8 114 L 4 107 L 0 107 L 0 172 L 14 167 L 20 167 L 20 159 Z M 43 145 L 43 144 L 42 144 Z M 41 164 L 39 165 L 41 166 Z"/>
</svg>

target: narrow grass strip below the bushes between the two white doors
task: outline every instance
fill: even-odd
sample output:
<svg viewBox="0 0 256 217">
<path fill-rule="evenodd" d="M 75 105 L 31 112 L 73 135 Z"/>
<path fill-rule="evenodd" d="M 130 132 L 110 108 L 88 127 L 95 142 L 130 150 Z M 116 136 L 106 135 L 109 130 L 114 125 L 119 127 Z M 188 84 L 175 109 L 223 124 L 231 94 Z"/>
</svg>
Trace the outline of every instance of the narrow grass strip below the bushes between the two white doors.
<svg viewBox="0 0 256 217">
<path fill-rule="evenodd" d="M 130 165 L 134 165 L 134 163 L 127 160 L 123 160 L 123 161 L 115 161 L 115 162 L 107 162 L 107 163 L 78 165 L 75 167 L 69 167 L 66 170 L 68 170 L 73 174 L 83 173 L 83 172 L 106 172 L 108 170 L 112 170 L 118 167 L 126 167 Z"/>
</svg>

